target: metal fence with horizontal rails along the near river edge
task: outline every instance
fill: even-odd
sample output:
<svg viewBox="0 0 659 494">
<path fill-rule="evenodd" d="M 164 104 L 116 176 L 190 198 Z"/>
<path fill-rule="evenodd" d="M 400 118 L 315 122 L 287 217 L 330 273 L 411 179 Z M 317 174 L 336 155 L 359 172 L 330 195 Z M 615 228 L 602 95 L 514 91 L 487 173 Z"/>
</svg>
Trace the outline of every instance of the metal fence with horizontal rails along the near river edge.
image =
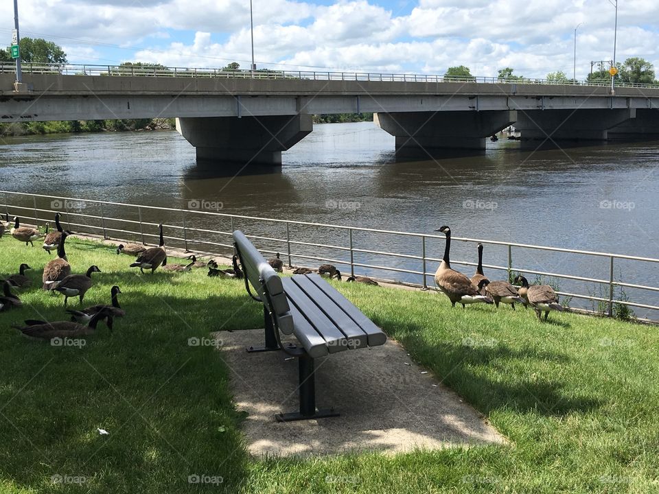
<svg viewBox="0 0 659 494">
<path fill-rule="evenodd" d="M 73 231 L 73 233 L 85 233 L 104 239 L 129 240 L 145 244 L 157 241 L 157 226 L 159 222 L 163 222 L 165 226 L 165 243 L 168 246 L 180 247 L 186 251 L 194 250 L 225 255 L 233 252 L 231 237 L 233 230 L 241 229 L 248 238 L 259 244 L 262 252 L 272 255 L 283 252 L 282 258 L 288 266 L 292 266 L 294 260 L 297 261 L 296 263 L 300 261 L 319 261 L 334 263 L 342 269 L 345 266 L 351 275 L 355 275 L 355 270 L 360 268 L 362 270 L 390 273 L 389 277 L 375 276 L 383 281 L 392 281 L 391 274 L 404 274 L 411 277 L 411 281 L 408 278 L 403 281 L 394 281 L 423 289 L 430 289 L 434 285 L 432 280 L 435 273 L 428 270 L 428 268 L 434 268 L 441 262 L 439 257 L 428 255 L 428 244 L 429 242 L 441 242 L 443 244 L 445 238 L 444 235 L 281 220 L 198 209 L 176 209 L 13 191 L 0 191 L 0 194 L 4 199 L 0 203 L 0 213 L 2 215 L 7 214 L 10 220 L 16 215 L 23 222 L 34 222 L 34 224 L 41 225 L 45 222 L 52 222 L 55 213 L 59 212 L 62 215 L 60 222 L 64 228 Z M 166 217 L 167 221 L 162 220 L 163 217 Z M 306 227 L 314 228 L 313 233 L 306 236 L 291 233 L 292 228 Z M 273 232 L 273 228 L 280 228 L 280 230 Z M 331 232 L 334 241 L 323 242 L 317 236 L 319 231 Z M 275 233 L 278 234 L 275 235 Z M 356 237 L 360 234 L 391 235 L 397 239 L 404 239 L 408 251 L 393 252 L 381 248 L 376 250 L 370 241 L 367 241 L 367 245 L 360 246 L 356 242 Z M 345 243 L 338 244 L 336 237 L 339 240 L 343 239 Z M 659 287 L 629 283 L 615 277 L 616 263 L 649 263 L 650 266 L 659 269 L 659 259 L 488 239 L 467 237 L 452 237 L 452 239 L 458 245 L 459 242 L 472 245 L 473 252 L 475 252 L 474 247 L 478 243 L 492 246 L 492 248 L 502 248 L 503 252 L 506 252 L 504 255 L 506 257 L 505 264 L 483 264 L 483 268 L 490 272 L 501 272 L 501 279 L 510 279 L 516 273 L 524 273 L 527 277 L 533 274 L 539 279 L 546 277 L 553 280 L 592 283 L 598 287 L 598 290 L 594 290 L 593 293 L 590 293 L 590 291 L 586 294 L 557 290 L 557 294 L 568 298 L 590 301 L 593 307 L 595 305 L 599 307 L 598 311 L 600 313 L 608 316 L 614 315 L 614 306 L 616 305 L 618 307 L 636 307 L 649 311 L 659 311 L 659 305 L 656 303 Z M 592 261 L 589 261 L 589 266 L 602 268 L 608 274 L 608 277 L 586 277 L 566 272 L 530 269 L 529 266 L 517 265 L 513 262 L 513 248 L 544 252 L 546 255 L 557 253 L 588 256 L 588 259 L 592 259 Z M 387 261 L 385 263 L 376 263 L 378 258 L 384 258 Z M 399 264 L 401 262 L 413 264 Z M 477 265 L 473 261 L 456 259 L 452 259 L 451 262 L 460 266 L 474 267 Z M 490 278 L 495 279 L 495 277 Z M 650 278 L 656 279 L 656 277 Z M 430 286 L 428 285 L 428 279 L 430 279 Z M 616 287 L 639 290 L 645 294 L 645 299 L 643 301 L 632 301 L 625 297 L 616 297 Z M 652 303 L 646 303 L 647 301 Z M 658 316 L 655 318 L 647 319 L 657 322 L 659 312 L 656 314 Z"/>
</svg>

